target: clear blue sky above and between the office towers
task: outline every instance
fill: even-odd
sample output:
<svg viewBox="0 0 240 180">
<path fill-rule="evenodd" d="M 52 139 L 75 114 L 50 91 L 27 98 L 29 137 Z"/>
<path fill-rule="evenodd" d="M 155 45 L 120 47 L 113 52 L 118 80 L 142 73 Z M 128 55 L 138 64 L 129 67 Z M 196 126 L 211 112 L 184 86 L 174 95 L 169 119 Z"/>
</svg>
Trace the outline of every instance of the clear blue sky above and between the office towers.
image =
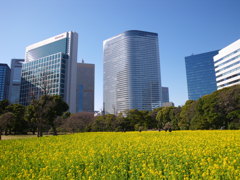
<svg viewBox="0 0 240 180">
<path fill-rule="evenodd" d="M 239 0 L 2 0 L 0 62 L 24 58 L 25 47 L 78 32 L 78 61 L 95 64 L 95 109 L 102 108 L 102 41 L 126 30 L 159 35 L 162 84 L 170 100 L 187 100 L 184 57 L 240 38 Z"/>
</svg>

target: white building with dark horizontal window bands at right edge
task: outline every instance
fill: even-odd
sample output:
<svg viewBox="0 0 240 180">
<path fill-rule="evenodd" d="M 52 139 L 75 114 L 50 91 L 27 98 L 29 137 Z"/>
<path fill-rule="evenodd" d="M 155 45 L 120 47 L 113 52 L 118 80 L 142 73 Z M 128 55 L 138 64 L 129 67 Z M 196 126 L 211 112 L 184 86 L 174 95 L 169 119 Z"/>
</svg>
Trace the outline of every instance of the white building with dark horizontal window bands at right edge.
<svg viewBox="0 0 240 180">
<path fill-rule="evenodd" d="M 240 83 L 240 39 L 221 49 L 214 56 L 217 88 Z"/>
</svg>

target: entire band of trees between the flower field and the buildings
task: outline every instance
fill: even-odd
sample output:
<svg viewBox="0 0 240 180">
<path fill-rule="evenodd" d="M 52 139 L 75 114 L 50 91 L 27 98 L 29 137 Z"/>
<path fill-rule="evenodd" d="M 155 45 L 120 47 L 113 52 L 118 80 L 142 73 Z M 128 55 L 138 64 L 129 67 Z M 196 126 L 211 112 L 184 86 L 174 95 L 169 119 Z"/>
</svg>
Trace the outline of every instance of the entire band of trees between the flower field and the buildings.
<svg viewBox="0 0 240 180">
<path fill-rule="evenodd" d="M 43 95 L 29 106 L 0 101 L 0 135 L 43 132 L 240 129 L 240 85 L 224 88 L 179 107 L 131 109 L 94 117 L 70 114 L 60 96 Z"/>
</svg>

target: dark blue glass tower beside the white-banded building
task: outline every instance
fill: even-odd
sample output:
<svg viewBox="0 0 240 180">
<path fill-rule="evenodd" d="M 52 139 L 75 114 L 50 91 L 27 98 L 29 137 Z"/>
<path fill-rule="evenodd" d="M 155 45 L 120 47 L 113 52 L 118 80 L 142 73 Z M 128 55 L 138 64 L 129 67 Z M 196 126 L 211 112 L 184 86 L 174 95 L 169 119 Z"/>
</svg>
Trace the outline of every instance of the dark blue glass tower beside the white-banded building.
<svg viewBox="0 0 240 180">
<path fill-rule="evenodd" d="M 217 90 L 213 56 L 218 51 L 185 57 L 188 99 L 197 100 Z"/>
</svg>

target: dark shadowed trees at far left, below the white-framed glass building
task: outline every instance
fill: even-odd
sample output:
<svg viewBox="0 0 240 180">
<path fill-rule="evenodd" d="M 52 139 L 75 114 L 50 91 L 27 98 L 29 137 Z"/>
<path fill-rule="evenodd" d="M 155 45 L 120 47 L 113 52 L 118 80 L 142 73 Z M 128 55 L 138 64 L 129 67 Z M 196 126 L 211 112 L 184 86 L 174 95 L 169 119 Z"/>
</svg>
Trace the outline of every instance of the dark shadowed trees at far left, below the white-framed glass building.
<svg viewBox="0 0 240 180">
<path fill-rule="evenodd" d="M 37 133 L 43 136 L 44 131 L 52 130 L 57 135 L 58 122 L 67 118 L 68 105 L 58 95 L 43 95 L 33 99 L 31 104 L 9 104 L 8 100 L 0 101 L 0 139 L 2 133 L 27 134 Z"/>
</svg>

